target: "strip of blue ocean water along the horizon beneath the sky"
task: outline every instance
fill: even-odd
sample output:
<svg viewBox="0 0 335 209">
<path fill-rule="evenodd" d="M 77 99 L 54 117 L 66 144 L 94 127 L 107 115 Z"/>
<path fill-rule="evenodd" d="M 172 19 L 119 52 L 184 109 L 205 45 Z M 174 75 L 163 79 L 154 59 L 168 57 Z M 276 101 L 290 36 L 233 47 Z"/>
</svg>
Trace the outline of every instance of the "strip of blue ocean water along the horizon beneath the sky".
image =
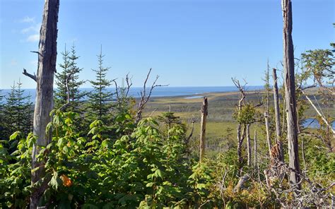
<svg viewBox="0 0 335 209">
<path fill-rule="evenodd" d="M 262 85 L 257 86 L 248 86 L 246 90 L 262 90 L 264 87 Z M 35 103 L 35 96 L 36 96 L 36 90 L 35 89 L 24 89 L 24 95 L 30 95 L 30 102 Z M 81 90 L 90 92 L 93 90 L 93 88 L 81 88 Z M 115 92 L 115 88 L 107 88 L 110 92 Z M 132 97 L 141 97 L 141 90 L 143 88 L 130 88 L 129 95 Z M 149 92 L 150 89 L 147 89 L 146 91 Z M 207 92 L 232 92 L 237 91 L 237 88 L 235 86 L 204 86 L 204 87 L 170 87 L 170 86 L 164 86 L 164 87 L 157 87 L 153 89 L 153 92 L 151 94 L 151 97 L 176 97 L 176 96 L 185 96 L 185 97 L 192 97 L 199 94 L 204 94 Z M 1 91 L 1 95 L 6 96 L 8 93 L 11 92 L 9 89 L 4 89 Z"/>
</svg>

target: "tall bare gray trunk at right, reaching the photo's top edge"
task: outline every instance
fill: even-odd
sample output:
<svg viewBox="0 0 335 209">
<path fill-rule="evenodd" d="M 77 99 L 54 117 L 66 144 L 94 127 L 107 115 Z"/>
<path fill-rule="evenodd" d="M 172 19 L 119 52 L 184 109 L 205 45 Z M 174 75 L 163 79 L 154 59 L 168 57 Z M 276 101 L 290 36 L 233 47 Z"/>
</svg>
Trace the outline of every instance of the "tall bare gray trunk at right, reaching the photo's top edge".
<svg viewBox="0 0 335 209">
<path fill-rule="evenodd" d="M 298 124 L 295 101 L 295 75 L 294 75 L 294 52 L 292 40 L 292 2 L 282 0 L 283 10 L 283 69 L 284 87 L 287 112 L 288 129 L 288 157 L 290 172 L 290 185 L 301 188 L 300 185 L 300 165 L 298 155 Z"/>
</svg>

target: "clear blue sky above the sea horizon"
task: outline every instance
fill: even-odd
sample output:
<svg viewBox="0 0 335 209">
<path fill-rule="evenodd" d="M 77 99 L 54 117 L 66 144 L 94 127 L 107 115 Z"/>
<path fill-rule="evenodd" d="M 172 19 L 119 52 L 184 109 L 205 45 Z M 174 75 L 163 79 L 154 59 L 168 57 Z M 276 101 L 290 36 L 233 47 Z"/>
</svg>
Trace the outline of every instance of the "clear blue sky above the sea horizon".
<svg viewBox="0 0 335 209">
<path fill-rule="evenodd" d="M 0 88 L 18 78 L 35 88 L 22 71 L 37 68 L 30 51 L 38 50 L 43 6 L 0 0 Z M 334 42 L 334 7 L 333 0 L 293 0 L 295 56 Z M 120 83 L 130 73 L 141 86 L 153 68 L 153 77 L 170 86 L 233 85 L 231 77 L 262 85 L 267 59 L 281 67 L 282 24 L 280 0 L 61 0 L 57 63 L 64 45 L 74 43 L 81 78 L 92 79 L 102 44 L 108 78 Z"/>
</svg>

